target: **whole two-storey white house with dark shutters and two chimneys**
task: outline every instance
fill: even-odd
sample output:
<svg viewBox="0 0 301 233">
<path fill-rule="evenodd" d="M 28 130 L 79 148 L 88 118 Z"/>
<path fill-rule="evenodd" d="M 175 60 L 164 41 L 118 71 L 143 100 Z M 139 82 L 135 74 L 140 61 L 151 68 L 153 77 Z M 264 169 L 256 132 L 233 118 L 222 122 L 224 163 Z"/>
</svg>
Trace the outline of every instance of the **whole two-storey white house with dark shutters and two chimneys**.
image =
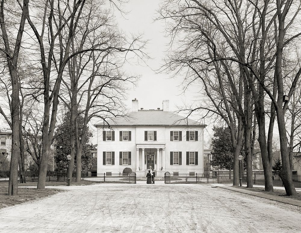
<svg viewBox="0 0 301 233">
<path fill-rule="evenodd" d="M 148 169 L 157 176 L 171 173 L 203 173 L 203 131 L 206 125 L 183 119 L 169 112 L 169 100 L 163 109 L 138 110 L 138 100 L 132 100 L 132 112 L 127 118 L 116 118 L 110 129 L 95 124 L 97 139 L 97 173 L 122 172 L 130 167 L 137 177 Z M 211 151 L 206 151 L 210 154 Z"/>
</svg>

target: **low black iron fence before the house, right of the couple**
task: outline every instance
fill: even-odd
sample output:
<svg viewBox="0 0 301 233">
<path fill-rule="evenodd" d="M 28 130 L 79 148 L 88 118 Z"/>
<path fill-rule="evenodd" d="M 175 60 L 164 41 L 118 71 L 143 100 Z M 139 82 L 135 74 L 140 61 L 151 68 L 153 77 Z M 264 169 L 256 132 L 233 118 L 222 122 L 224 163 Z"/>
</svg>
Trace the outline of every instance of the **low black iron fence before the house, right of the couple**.
<svg viewBox="0 0 301 233">
<path fill-rule="evenodd" d="M 165 184 L 214 184 L 229 183 L 229 173 L 223 172 L 205 172 L 205 173 L 170 173 L 165 172 Z"/>
</svg>

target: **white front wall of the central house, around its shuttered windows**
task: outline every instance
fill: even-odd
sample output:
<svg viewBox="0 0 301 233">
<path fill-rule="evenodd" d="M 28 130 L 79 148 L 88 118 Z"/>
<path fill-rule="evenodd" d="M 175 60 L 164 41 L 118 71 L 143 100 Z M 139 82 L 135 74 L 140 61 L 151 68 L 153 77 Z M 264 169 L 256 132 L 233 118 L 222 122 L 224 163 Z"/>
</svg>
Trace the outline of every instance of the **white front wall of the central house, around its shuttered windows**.
<svg viewBox="0 0 301 233">
<path fill-rule="evenodd" d="M 130 167 L 136 172 L 136 144 L 165 144 L 165 171 L 169 172 L 197 172 L 203 173 L 203 127 L 118 127 L 115 131 L 115 141 L 103 141 L 103 128 L 98 127 L 98 161 L 97 173 L 122 172 L 125 167 Z M 144 141 L 145 130 L 156 130 L 157 141 Z M 186 141 L 186 131 L 198 131 L 198 141 Z M 131 131 L 131 141 L 119 141 L 119 131 Z M 170 141 L 170 131 L 182 131 L 182 141 Z M 115 151 L 115 165 L 103 165 L 103 151 Z M 131 165 L 119 165 L 119 151 L 131 151 Z M 182 165 L 170 165 L 170 151 L 182 151 Z M 186 165 L 186 151 L 198 151 L 198 165 Z M 157 161 L 161 159 L 160 150 Z M 144 158 L 139 151 L 140 170 L 144 170 Z M 157 163 L 158 164 L 158 163 Z M 160 168 L 158 167 L 157 170 Z"/>
</svg>

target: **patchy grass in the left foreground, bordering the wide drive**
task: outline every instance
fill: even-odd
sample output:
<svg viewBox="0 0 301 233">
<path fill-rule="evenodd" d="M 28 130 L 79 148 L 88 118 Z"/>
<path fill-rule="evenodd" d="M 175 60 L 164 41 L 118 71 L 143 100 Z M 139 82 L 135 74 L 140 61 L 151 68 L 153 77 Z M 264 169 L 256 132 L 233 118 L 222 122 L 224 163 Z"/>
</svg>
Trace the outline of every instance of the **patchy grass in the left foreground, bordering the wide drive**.
<svg viewBox="0 0 301 233">
<path fill-rule="evenodd" d="M 7 183 L 8 184 L 8 183 Z M 34 199 L 47 197 L 55 193 L 64 192 L 58 189 L 36 190 L 34 188 L 18 189 L 18 196 L 8 196 L 8 188 L 0 187 L 0 209 L 8 206 L 13 206 L 23 202 L 28 202 Z"/>
</svg>

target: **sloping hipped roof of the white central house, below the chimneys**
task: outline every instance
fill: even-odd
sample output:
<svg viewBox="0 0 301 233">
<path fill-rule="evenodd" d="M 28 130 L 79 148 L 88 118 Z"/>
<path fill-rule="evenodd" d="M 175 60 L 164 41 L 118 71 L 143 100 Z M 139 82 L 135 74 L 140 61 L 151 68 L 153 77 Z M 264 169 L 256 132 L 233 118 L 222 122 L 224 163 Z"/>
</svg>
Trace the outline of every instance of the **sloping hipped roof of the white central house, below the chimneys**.
<svg viewBox="0 0 301 233">
<path fill-rule="evenodd" d="M 173 112 L 163 110 L 138 110 L 138 112 L 129 112 L 127 117 L 117 117 L 108 121 L 111 126 L 202 126 L 206 125 L 177 115 Z M 104 126 L 103 121 L 98 121 L 94 126 Z"/>
</svg>

